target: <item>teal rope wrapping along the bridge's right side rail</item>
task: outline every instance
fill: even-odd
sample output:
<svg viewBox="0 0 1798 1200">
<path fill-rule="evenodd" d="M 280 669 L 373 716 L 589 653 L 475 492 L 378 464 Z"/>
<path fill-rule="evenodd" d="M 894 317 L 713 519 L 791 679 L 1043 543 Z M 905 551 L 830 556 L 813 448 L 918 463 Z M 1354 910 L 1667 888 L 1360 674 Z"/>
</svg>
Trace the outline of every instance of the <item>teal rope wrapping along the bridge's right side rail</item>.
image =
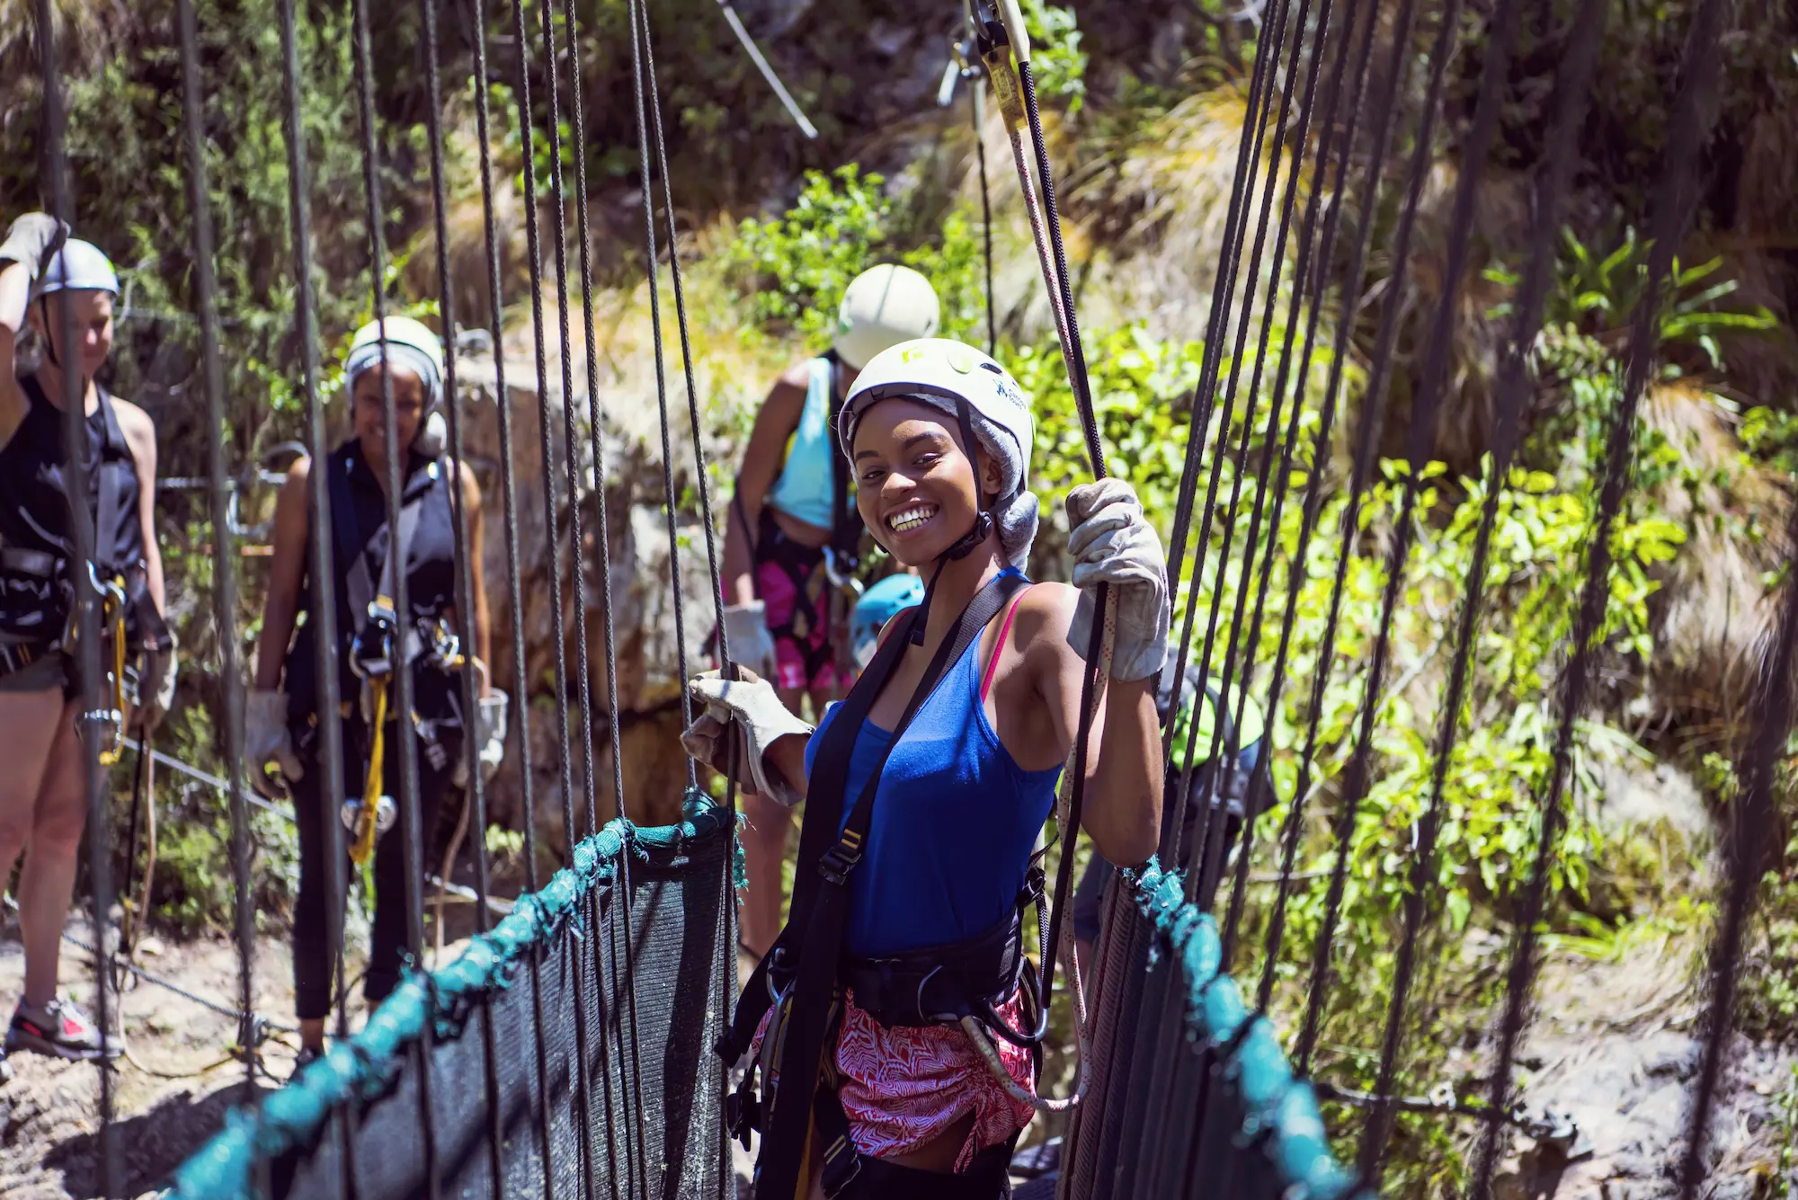
<svg viewBox="0 0 1798 1200">
<path fill-rule="evenodd" d="M 1354 1178 L 1331 1153 L 1318 1098 L 1293 1074 L 1273 1024 L 1255 1017 L 1235 979 L 1223 974 L 1223 941 L 1210 913 L 1188 904 L 1179 873 L 1163 871 L 1154 859 L 1122 875 L 1136 911 L 1154 925 L 1156 950 L 1178 963 L 1187 983 L 1187 1029 L 1205 1046 L 1233 1046 L 1221 1072 L 1242 1099 L 1241 1143 L 1266 1137 L 1266 1153 L 1295 1200 L 1343 1196 Z"/>
</svg>

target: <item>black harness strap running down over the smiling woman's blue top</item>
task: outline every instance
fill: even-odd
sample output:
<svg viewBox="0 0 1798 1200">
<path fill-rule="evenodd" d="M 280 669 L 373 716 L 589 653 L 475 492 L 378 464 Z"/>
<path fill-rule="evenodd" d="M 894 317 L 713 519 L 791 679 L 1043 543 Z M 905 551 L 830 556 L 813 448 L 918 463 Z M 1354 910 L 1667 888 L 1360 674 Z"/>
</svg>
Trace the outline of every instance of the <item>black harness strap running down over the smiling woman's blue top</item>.
<svg viewBox="0 0 1798 1200">
<path fill-rule="evenodd" d="M 904 715 L 894 726 L 886 751 L 881 754 L 867 785 L 856 798 L 849 821 L 838 834 L 838 817 L 847 799 L 849 763 L 861 726 L 874 708 L 874 701 L 885 690 L 901 656 L 910 647 L 912 625 L 919 620 L 919 611 L 912 609 L 903 620 L 904 629 L 895 629 L 876 654 L 867 674 L 850 690 L 843 708 L 836 713 L 831 728 L 823 735 L 818 756 L 813 763 L 811 785 L 807 787 L 806 821 L 800 828 L 800 869 L 793 884 L 793 913 L 786 929 L 770 950 L 770 959 L 777 965 L 780 957 L 797 952 L 793 965 L 793 983 L 786 990 L 784 1002 L 786 1029 L 775 1063 L 782 1081 L 798 1081 L 786 1089 L 786 1103 L 780 1094 L 773 1098 L 771 1112 L 766 1114 L 766 1141 L 757 1164 L 757 1195 L 768 1200 L 786 1200 L 798 1189 L 804 1169 L 806 1146 L 811 1134 L 814 1092 L 818 1071 L 827 1044 L 831 1008 L 836 1001 L 838 966 L 843 947 L 843 931 L 849 920 L 849 877 L 861 862 L 867 846 L 868 826 L 874 819 L 874 798 L 879 792 L 881 772 L 886 760 L 899 746 L 906 728 L 935 692 L 949 665 L 955 663 L 967 647 L 982 634 L 987 623 L 998 616 L 1028 580 L 1005 571 L 987 582 L 957 618 L 955 632 L 942 640 L 931 657 L 924 677 L 919 681 L 906 702 Z M 802 931 L 802 934 L 795 934 Z M 762 986 L 766 988 L 766 974 Z M 755 981 L 750 983 L 750 988 Z M 746 990 L 744 993 L 753 995 Z M 739 1024 L 741 1024 L 739 1011 Z M 757 1015 L 757 1022 L 759 1022 Z M 834 1092 L 834 1089 L 832 1089 Z M 852 1143 L 847 1143 L 852 1150 Z M 852 1171 L 850 1171 L 852 1173 Z"/>
</svg>

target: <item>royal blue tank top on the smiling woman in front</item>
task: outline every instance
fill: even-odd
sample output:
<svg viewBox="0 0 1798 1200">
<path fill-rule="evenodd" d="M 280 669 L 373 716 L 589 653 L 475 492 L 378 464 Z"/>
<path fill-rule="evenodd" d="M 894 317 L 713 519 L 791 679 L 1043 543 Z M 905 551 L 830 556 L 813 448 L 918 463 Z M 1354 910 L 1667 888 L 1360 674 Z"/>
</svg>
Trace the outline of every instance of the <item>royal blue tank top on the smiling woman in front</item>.
<svg viewBox="0 0 1798 1200">
<path fill-rule="evenodd" d="M 806 746 L 806 772 L 841 711 Z M 849 758 L 845 812 L 892 731 L 863 722 Z M 1061 767 L 1025 771 L 980 704 L 980 640 L 967 647 L 899 738 L 874 794 L 868 848 L 849 877 L 849 950 L 879 956 L 960 941 L 1010 913 Z"/>
</svg>

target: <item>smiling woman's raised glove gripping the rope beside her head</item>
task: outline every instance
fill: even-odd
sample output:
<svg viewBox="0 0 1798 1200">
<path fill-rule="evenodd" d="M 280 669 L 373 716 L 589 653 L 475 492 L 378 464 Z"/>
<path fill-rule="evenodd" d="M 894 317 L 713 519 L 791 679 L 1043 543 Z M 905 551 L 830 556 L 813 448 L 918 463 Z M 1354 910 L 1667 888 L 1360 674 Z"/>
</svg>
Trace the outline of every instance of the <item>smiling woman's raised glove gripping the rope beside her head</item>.
<svg viewBox="0 0 1798 1200">
<path fill-rule="evenodd" d="M 1081 602 L 1073 609 L 1068 645 L 1086 657 L 1091 640 L 1097 587 L 1111 584 L 1117 641 L 1111 677 L 1122 683 L 1147 679 L 1167 661 L 1167 555 L 1162 539 L 1142 512 L 1136 489 L 1124 480 L 1082 483 L 1068 492 L 1068 553 Z"/>
</svg>

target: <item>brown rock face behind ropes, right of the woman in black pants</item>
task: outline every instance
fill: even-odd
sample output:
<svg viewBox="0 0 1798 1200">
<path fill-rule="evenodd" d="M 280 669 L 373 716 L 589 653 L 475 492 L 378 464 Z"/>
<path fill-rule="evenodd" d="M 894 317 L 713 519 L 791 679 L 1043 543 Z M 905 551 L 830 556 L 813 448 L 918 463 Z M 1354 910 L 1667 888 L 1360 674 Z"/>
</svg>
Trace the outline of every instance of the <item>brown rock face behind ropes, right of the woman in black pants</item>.
<svg viewBox="0 0 1798 1200">
<path fill-rule="evenodd" d="M 566 787 L 574 789 L 577 834 L 586 832 L 588 785 L 583 738 L 592 747 L 593 794 L 599 821 L 617 812 L 611 729 L 622 746 L 624 808 L 633 821 L 649 825 L 676 819 L 687 789 L 687 760 L 680 749 L 681 654 L 685 670 L 710 666 L 708 638 L 716 625 L 712 575 L 705 551 L 705 528 L 698 512 L 696 469 L 685 392 L 676 392 L 671 370 L 669 406 L 674 449 L 676 537 L 671 553 L 660 422 L 656 393 L 620 386 L 602 390 L 599 442 L 606 465 L 606 530 L 601 532 L 593 490 L 593 426 L 584 388 L 584 365 L 575 372 L 574 456 L 579 483 L 581 555 L 570 560 L 575 510 L 568 489 L 568 437 L 563 417 L 559 365 L 548 368 L 548 388 L 539 386 L 532 357 L 507 354 L 503 392 L 491 356 L 458 361 L 462 435 L 466 454 L 482 485 L 482 569 L 493 622 L 494 684 L 512 695 L 512 728 L 507 762 L 489 787 L 489 819 L 516 825 L 525 810 L 525 763 L 520 719 L 529 738 L 529 796 L 539 835 L 565 844 Z M 509 415 L 509 438 L 502 437 L 500 399 Z M 712 395 L 703 411 L 728 415 L 735 401 Z M 541 437 L 548 420 L 548 454 Z M 728 424 L 728 422 L 721 422 Z M 507 446 L 509 440 L 509 446 Z M 723 462 L 723 444 L 708 446 Z M 509 451 L 509 453 L 507 453 Z M 511 584 L 507 546 L 507 478 L 500 463 L 511 462 L 512 523 L 516 523 L 518 587 Z M 547 507 L 545 498 L 554 507 Z M 714 501 L 728 498 L 714 496 Z M 563 762 L 556 697 L 556 587 L 550 573 L 550 534 L 561 553 L 561 613 L 566 656 L 568 762 Z M 608 702 L 608 656 L 604 638 L 606 591 L 599 548 L 610 566 L 610 611 L 615 634 L 617 713 Z M 579 587 L 575 587 L 579 580 Z M 516 609 L 512 596 L 521 607 Z M 514 650 L 514 616 L 523 629 L 523 654 Z M 579 622 L 579 623 L 577 623 Z M 581 657 L 581 631 L 586 657 Z M 523 668 L 520 668 L 520 661 Z M 583 674 L 590 693 L 592 720 L 581 719 Z M 523 681 L 521 681 L 523 679 Z M 521 697 L 529 695 L 529 702 Z"/>
</svg>

